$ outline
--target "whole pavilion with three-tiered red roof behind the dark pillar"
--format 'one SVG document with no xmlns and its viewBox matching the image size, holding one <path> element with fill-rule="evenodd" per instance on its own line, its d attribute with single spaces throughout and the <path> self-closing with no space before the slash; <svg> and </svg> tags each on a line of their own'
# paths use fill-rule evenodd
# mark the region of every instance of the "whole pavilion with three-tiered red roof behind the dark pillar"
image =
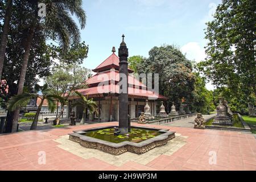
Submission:
<svg viewBox="0 0 256 182">
<path fill-rule="evenodd" d="M 130 118 L 138 118 L 141 112 L 144 111 L 146 102 L 150 106 L 151 114 L 153 116 L 156 115 L 156 106 L 160 104 L 160 101 L 166 101 L 167 98 L 147 89 L 146 85 L 133 76 L 133 71 L 130 68 L 128 68 L 128 71 L 128 113 Z M 119 57 L 115 55 L 115 47 L 112 49 L 112 55 L 93 69 L 93 72 L 96 72 L 96 74 L 86 80 L 88 88 L 77 90 L 84 96 L 93 98 L 98 104 L 98 115 L 87 112 L 86 120 L 118 121 Z M 82 106 L 71 108 L 72 102 L 76 99 L 77 97 L 69 98 L 67 117 L 69 118 L 69 114 L 73 109 L 77 120 L 80 121 L 82 118 Z"/>
</svg>

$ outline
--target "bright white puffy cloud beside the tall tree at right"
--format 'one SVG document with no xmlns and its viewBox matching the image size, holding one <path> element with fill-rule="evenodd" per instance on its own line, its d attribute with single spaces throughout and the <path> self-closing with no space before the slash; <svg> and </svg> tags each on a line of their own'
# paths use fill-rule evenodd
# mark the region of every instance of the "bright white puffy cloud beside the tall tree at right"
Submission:
<svg viewBox="0 0 256 182">
<path fill-rule="evenodd" d="M 205 59 L 204 48 L 199 46 L 197 42 L 189 42 L 181 47 L 181 52 L 186 54 L 187 59 L 195 60 L 196 62 Z"/>
</svg>

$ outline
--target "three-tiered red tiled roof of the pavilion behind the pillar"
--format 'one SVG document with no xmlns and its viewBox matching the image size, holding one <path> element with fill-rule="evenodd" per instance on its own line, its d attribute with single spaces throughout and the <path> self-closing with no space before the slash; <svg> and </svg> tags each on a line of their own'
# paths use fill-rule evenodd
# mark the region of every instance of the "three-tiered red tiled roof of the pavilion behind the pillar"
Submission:
<svg viewBox="0 0 256 182">
<path fill-rule="evenodd" d="M 77 91 L 89 97 L 99 97 L 101 94 L 119 93 L 119 57 L 115 55 L 114 51 L 112 55 L 93 69 L 93 71 L 97 72 L 96 75 L 86 80 L 86 84 L 88 84 L 89 88 L 79 89 Z M 128 71 L 129 73 L 133 72 L 130 68 Z M 167 100 L 166 97 L 154 93 L 151 90 L 147 90 L 146 85 L 142 84 L 142 82 L 131 75 L 128 76 L 128 84 L 129 97 L 145 98 L 149 100 Z"/>
</svg>

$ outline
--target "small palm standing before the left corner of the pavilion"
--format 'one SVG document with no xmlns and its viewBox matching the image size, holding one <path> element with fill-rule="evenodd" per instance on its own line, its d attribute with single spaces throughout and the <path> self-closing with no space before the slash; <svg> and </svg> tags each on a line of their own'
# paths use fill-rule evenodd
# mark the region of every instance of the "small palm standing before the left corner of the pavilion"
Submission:
<svg viewBox="0 0 256 182">
<path fill-rule="evenodd" d="M 86 109 L 88 109 L 89 113 L 91 113 L 91 114 L 93 114 L 94 112 L 98 113 L 98 106 L 97 106 L 96 102 L 93 101 L 92 98 L 88 100 L 88 97 L 83 96 L 81 93 L 79 93 L 77 91 L 75 91 L 75 93 L 77 94 L 77 96 L 79 96 L 80 100 L 78 100 L 74 104 L 72 104 L 72 107 L 74 107 L 76 105 L 80 105 L 83 107 L 82 119 L 80 121 L 80 125 L 84 125 Z"/>
</svg>

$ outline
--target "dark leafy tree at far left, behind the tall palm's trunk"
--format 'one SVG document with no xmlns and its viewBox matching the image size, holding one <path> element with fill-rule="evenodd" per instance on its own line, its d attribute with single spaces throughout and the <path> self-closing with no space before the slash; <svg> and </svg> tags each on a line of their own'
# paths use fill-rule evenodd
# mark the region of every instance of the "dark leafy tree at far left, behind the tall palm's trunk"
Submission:
<svg viewBox="0 0 256 182">
<path fill-rule="evenodd" d="M 21 1 L 19 1 L 21 2 Z M 23 43 L 27 32 L 26 19 L 23 6 L 18 6 L 18 1 L 13 5 L 11 14 L 10 31 L 7 39 L 5 61 L 2 72 L 1 84 L 2 106 L 6 108 L 6 102 L 10 97 L 17 94 L 20 69 L 24 54 Z M 3 10 L 0 6 L 0 12 Z M 1 27 L 2 28 L 2 27 Z M 42 29 L 37 28 L 31 44 L 30 57 L 28 59 L 27 73 L 24 82 L 24 90 L 30 92 L 39 78 L 48 76 L 50 73 L 52 49 L 46 44 L 46 36 Z M 14 111 L 8 111 L 5 123 L 5 132 L 10 133 L 13 125 Z"/>
</svg>

